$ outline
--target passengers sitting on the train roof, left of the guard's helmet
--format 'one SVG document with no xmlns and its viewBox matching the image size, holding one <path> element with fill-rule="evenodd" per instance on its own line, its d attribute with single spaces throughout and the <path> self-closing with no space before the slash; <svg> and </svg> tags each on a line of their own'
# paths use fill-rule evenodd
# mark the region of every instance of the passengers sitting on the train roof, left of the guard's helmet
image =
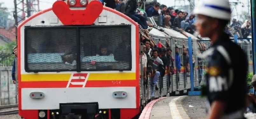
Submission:
<svg viewBox="0 0 256 119">
<path fill-rule="evenodd" d="M 148 22 L 148 17 L 160 16 L 163 19 L 164 28 L 172 28 L 176 31 L 181 32 L 183 35 L 187 36 L 184 32 L 189 32 L 191 34 L 195 31 L 195 15 L 190 14 L 186 10 L 174 10 L 172 7 L 167 7 L 166 5 L 160 5 L 156 1 L 144 4 L 143 0 L 101 0 L 104 5 L 112 9 L 118 10 L 121 13 L 127 15 L 135 22 L 140 24 L 140 26 L 148 32 L 149 27 L 154 27 L 153 24 Z"/>
</svg>

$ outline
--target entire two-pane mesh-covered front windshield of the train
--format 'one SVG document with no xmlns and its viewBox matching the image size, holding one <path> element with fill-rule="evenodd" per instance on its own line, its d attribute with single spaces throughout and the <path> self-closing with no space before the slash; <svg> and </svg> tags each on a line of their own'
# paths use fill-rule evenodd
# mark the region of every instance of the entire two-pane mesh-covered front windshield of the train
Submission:
<svg viewBox="0 0 256 119">
<path fill-rule="evenodd" d="M 131 70 L 130 31 L 129 25 L 25 27 L 25 70 Z"/>
</svg>

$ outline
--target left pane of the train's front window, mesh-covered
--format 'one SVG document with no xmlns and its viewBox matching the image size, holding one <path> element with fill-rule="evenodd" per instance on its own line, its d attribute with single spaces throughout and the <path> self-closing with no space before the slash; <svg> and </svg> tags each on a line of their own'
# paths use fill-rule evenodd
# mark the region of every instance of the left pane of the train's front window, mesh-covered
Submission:
<svg viewBox="0 0 256 119">
<path fill-rule="evenodd" d="M 77 69 L 76 28 L 29 27 L 25 29 L 25 46 L 28 71 Z"/>
</svg>

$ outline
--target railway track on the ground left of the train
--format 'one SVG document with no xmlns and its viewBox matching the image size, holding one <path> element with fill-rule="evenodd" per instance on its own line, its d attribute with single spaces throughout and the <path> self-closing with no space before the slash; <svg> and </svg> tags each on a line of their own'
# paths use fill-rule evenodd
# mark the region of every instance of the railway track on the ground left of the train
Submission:
<svg viewBox="0 0 256 119">
<path fill-rule="evenodd" d="M 11 114 L 17 114 L 18 113 L 18 109 L 16 109 L 18 107 L 17 104 L 12 104 L 12 105 L 3 105 L 0 106 L 0 115 L 11 115 Z M 15 109 L 13 109 L 15 108 Z M 4 111 L 2 111 L 4 110 Z"/>
</svg>

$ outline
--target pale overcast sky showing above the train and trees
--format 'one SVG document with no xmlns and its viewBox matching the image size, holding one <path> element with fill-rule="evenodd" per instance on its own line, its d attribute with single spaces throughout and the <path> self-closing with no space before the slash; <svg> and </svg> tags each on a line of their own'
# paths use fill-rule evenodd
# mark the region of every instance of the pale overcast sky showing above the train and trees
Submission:
<svg viewBox="0 0 256 119">
<path fill-rule="evenodd" d="M 37 0 L 34 0 L 37 1 Z M 52 7 L 52 4 L 56 0 L 39 0 L 39 9 L 44 10 L 47 8 Z M 198 3 L 199 0 L 195 0 L 195 5 Z M 242 11 L 248 12 L 248 1 L 250 0 L 229 0 L 231 3 L 231 9 L 232 9 L 232 16 L 233 18 L 239 19 L 239 16 L 241 15 Z M 4 5 L 2 7 L 7 7 L 9 11 L 14 10 L 14 0 L 0 0 L 0 3 L 3 2 Z M 165 4 L 166 6 L 184 6 L 188 5 L 188 0 L 157 0 L 157 2 L 161 4 Z M 237 2 L 238 4 L 235 5 L 234 2 Z M 236 6 L 236 8 L 235 8 Z M 244 6 L 244 7 L 242 7 Z M 250 10 L 250 9 L 249 9 Z M 189 11 L 188 11 L 189 12 Z M 190 11 L 191 12 L 191 11 Z"/>
</svg>

